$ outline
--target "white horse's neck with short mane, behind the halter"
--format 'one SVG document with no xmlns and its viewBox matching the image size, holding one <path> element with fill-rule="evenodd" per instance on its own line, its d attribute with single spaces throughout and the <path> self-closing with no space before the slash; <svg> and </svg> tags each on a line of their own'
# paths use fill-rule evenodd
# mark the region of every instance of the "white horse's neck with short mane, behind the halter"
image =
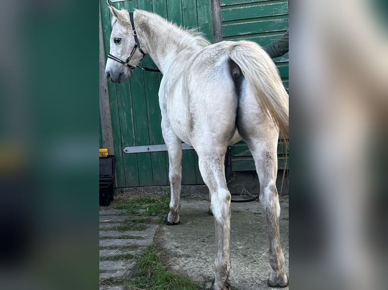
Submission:
<svg viewBox="0 0 388 290">
<path fill-rule="evenodd" d="M 195 36 L 159 17 L 136 11 L 134 19 L 141 46 L 162 73 L 205 46 L 205 40 L 197 41 Z"/>
</svg>

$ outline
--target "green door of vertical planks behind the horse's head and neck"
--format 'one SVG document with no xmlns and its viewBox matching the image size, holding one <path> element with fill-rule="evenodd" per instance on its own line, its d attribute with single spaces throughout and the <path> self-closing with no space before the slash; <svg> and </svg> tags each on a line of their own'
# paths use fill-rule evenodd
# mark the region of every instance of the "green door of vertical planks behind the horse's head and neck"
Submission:
<svg viewBox="0 0 388 290">
<path fill-rule="evenodd" d="M 113 2 L 118 9 L 142 9 L 157 13 L 186 28 L 196 28 L 213 40 L 210 0 L 128 0 Z M 110 13 L 100 1 L 105 55 L 109 53 Z M 142 65 L 156 68 L 146 56 Z M 161 130 L 158 90 L 162 75 L 136 69 L 132 79 L 108 82 L 117 187 L 168 185 L 167 152 L 126 154 L 126 147 L 164 144 Z M 182 183 L 203 184 L 198 156 L 183 151 Z"/>
</svg>

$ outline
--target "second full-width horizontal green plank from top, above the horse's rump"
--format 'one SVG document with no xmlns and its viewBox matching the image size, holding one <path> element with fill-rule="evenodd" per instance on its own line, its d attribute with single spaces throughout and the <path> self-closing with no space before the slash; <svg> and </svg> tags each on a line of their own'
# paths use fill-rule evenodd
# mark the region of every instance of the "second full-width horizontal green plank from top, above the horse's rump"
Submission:
<svg viewBox="0 0 388 290">
<path fill-rule="evenodd" d="M 284 31 L 288 27 L 288 15 L 268 17 L 260 21 L 239 20 L 222 24 L 223 36 L 246 35 L 272 31 Z"/>
</svg>

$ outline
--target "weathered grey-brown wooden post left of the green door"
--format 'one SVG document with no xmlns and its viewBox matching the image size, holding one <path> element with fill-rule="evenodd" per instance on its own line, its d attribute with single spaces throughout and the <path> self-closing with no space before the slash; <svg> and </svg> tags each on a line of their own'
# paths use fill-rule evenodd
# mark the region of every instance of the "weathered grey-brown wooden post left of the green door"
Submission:
<svg viewBox="0 0 388 290">
<path fill-rule="evenodd" d="M 110 155 L 114 155 L 113 149 L 113 134 L 112 134 L 112 122 L 110 117 L 109 107 L 109 91 L 108 83 L 105 74 L 105 50 L 104 50 L 104 37 L 102 34 L 102 23 L 101 23 L 101 9 L 99 11 L 99 49 L 100 49 L 100 129 L 101 129 L 101 140 L 102 148 L 107 148 Z"/>
</svg>

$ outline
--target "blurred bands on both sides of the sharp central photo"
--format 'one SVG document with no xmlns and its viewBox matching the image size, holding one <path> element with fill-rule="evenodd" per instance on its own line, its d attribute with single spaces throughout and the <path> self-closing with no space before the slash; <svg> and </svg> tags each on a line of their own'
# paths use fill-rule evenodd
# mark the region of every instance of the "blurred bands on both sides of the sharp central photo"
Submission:
<svg viewBox="0 0 388 290">
<path fill-rule="evenodd" d="M 0 9 L 0 288 L 98 287 L 97 2 Z M 388 9 L 289 2 L 290 287 L 382 289 Z"/>
</svg>

